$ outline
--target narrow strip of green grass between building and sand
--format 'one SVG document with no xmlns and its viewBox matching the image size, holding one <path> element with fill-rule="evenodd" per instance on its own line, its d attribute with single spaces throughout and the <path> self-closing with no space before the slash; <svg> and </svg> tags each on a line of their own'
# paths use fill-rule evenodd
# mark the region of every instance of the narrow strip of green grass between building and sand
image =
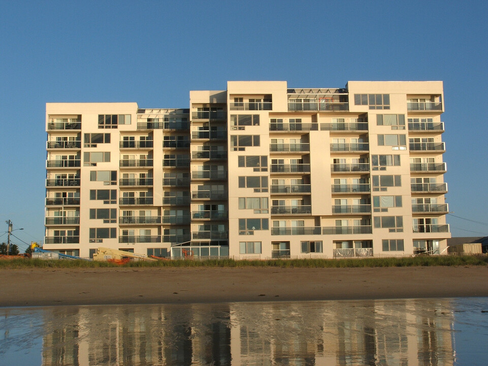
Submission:
<svg viewBox="0 0 488 366">
<path fill-rule="evenodd" d="M 279 267 L 279 268 L 354 268 L 354 267 L 411 267 L 411 266 L 478 266 L 487 265 L 487 255 L 425 256 L 404 258 L 347 258 L 347 259 L 270 259 L 270 260 L 168 260 L 157 262 L 129 262 L 117 265 L 110 262 L 85 260 L 0 260 L 2 268 L 120 268 L 120 267 Z"/>
</svg>

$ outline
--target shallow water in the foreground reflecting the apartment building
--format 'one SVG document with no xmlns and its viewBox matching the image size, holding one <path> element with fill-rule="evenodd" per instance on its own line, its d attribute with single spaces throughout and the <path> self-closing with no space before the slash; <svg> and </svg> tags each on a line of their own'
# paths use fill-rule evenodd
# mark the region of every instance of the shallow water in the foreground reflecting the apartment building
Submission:
<svg viewBox="0 0 488 366">
<path fill-rule="evenodd" d="M 0 308 L 0 365 L 485 365 L 488 298 Z"/>
</svg>

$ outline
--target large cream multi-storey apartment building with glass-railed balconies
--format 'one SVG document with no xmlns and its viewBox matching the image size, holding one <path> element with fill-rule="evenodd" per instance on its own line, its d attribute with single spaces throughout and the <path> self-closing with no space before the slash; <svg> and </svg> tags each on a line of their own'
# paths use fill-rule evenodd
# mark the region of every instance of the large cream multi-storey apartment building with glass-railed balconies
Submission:
<svg viewBox="0 0 488 366">
<path fill-rule="evenodd" d="M 442 254 L 443 111 L 441 81 L 229 81 L 189 109 L 47 103 L 44 248 Z"/>
</svg>

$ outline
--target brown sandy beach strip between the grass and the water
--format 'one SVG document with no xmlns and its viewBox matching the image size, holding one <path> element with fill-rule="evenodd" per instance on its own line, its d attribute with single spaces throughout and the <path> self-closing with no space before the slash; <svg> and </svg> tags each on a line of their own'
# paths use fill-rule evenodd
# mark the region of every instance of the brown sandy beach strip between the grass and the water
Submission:
<svg viewBox="0 0 488 366">
<path fill-rule="evenodd" d="M 488 296 L 488 268 L 0 269 L 0 307 Z"/>
</svg>

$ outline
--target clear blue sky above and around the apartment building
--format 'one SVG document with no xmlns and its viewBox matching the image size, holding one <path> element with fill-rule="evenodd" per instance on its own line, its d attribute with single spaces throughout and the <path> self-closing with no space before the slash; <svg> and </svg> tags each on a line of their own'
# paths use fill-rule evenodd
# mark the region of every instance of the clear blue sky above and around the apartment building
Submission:
<svg viewBox="0 0 488 366">
<path fill-rule="evenodd" d="M 449 209 L 488 224 L 486 14 L 481 0 L 0 0 L 0 241 L 8 219 L 43 239 L 46 102 L 188 107 L 190 90 L 227 80 L 443 80 Z"/>
</svg>

